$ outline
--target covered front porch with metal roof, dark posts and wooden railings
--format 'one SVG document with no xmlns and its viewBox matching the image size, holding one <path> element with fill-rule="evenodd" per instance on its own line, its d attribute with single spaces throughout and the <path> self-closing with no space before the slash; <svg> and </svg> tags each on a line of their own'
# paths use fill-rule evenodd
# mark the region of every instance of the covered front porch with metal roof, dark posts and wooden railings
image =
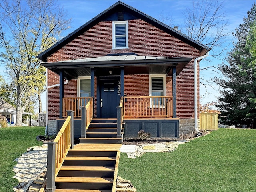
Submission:
<svg viewBox="0 0 256 192">
<path fill-rule="evenodd" d="M 67 111 L 72 110 L 74 124 L 78 122 L 78 128 L 83 126 L 83 119 L 86 119 L 84 126 L 87 129 L 93 118 L 114 118 L 117 120 L 117 126 L 122 128 L 122 125 L 125 125 L 126 137 L 137 136 L 139 130 L 148 130 L 152 137 L 179 137 L 176 77 L 191 59 L 126 54 L 43 63 L 43 66 L 59 75 L 60 110 L 57 130 L 67 117 Z M 164 78 L 168 77 L 171 79 L 172 90 L 168 94 L 166 91 L 152 91 L 146 95 L 130 94 L 125 87 L 129 75 L 141 74 L 161 74 Z M 78 79 L 80 76 L 90 76 L 90 96 L 64 97 L 64 79 Z M 137 85 L 138 82 L 133 83 L 134 90 Z"/>
</svg>

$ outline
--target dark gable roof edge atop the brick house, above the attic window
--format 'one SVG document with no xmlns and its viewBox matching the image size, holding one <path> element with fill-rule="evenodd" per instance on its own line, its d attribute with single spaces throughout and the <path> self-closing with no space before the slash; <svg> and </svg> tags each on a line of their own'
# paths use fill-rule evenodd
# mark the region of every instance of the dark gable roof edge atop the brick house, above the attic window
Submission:
<svg viewBox="0 0 256 192">
<path fill-rule="evenodd" d="M 155 18 L 152 18 L 151 16 L 144 14 L 143 12 L 140 12 L 139 10 L 136 10 L 135 8 L 118 1 L 112 6 L 110 6 L 108 9 L 104 10 L 102 13 L 98 14 L 96 17 L 92 18 L 90 21 L 88 21 L 86 24 L 82 25 L 80 28 L 76 29 L 74 32 L 70 33 L 68 36 L 64 37 L 62 40 L 42 52 L 37 56 L 40 60 L 43 62 L 47 62 L 47 57 L 68 44 L 70 41 L 74 40 L 76 37 L 84 33 L 86 30 L 92 28 L 94 25 L 99 23 L 100 21 L 106 20 L 111 14 L 114 14 L 118 11 L 126 11 L 129 12 L 132 16 L 135 18 L 140 18 L 149 24 L 152 24 L 153 26 L 167 32 L 168 34 L 174 36 L 175 38 L 178 38 L 179 40 L 182 40 L 183 42 L 191 45 L 192 47 L 200 50 L 202 55 L 206 54 L 206 52 L 209 50 L 209 48 L 196 40 L 193 40 L 192 38 L 178 32 L 177 30 L 174 30 L 174 28 L 160 22 L 159 20 L 156 20 Z"/>
</svg>

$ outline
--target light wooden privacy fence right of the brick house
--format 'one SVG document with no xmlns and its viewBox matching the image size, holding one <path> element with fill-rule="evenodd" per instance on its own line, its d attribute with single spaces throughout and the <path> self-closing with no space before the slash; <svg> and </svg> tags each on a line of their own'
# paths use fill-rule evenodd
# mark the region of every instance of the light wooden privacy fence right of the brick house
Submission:
<svg viewBox="0 0 256 192">
<path fill-rule="evenodd" d="M 200 130 L 217 130 L 218 113 L 200 113 Z"/>
</svg>

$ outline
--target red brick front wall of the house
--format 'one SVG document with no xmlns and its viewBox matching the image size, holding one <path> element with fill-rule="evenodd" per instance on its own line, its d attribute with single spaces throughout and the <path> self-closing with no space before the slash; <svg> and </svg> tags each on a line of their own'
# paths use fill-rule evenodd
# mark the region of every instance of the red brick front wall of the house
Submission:
<svg viewBox="0 0 256 192">
<path fill-rule="evenodd" d="M 191 118 L 194 111 L 193 65 L 194 59 L 199 56 L 199 51 L 143 20 L 128 21 L 128 47 L 128 49 L 112 50 L 112 22 L 104 21 L 96 24 L 96 26 L 49 56 L 47 62 L 98 57 L 110 53 L 125 52 L 133 52 L 142 56 L 192 57 L 192 61 L 177 77 L 177 116 L 179 118 Z M 48 70 L 48 85 L 58 84 L 58 81 L 58 75 Z M 76 96 L 76 80 L 73 81 L 64 86 L 64 96 Z M 130 94 L 148 95 L 148 75 L 138 75 L 137 77 L 132 75 L 125 76 L 124 81 L 125 94 L 127 96 L 130 96 Z M 166 84 L 166 94 L 172 95 L 171 77 L 166 78 Z M 58 88 L 48 92 L 48 100 L 48 118 L 56 119 L 58 118 L 58 115 L 56 115 L 58 114 L 56 113 L 58 110 Z"/>
</svg>

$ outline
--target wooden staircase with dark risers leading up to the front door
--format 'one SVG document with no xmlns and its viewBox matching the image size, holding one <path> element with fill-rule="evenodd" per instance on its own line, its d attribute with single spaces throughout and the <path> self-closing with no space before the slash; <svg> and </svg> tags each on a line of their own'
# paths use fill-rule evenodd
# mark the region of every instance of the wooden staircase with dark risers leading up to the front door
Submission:
<svg viewBox="0 0 256 192">
<path fill-rule="evenodd" d="M 55 179 L 56 192 L 114 192 L 122 138 L 116 119 L 93 119 L 86 138 L 70 149 Z"/>
</svg>

